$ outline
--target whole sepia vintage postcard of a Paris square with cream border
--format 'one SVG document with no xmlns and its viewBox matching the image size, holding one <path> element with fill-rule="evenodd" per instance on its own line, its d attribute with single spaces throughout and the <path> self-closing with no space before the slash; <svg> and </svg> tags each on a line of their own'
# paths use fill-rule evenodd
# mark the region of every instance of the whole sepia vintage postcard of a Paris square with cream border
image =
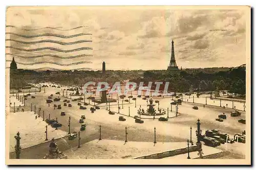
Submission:
<svg viewBox="0 0 256 170">
<path fill-rule="evenodd" d="M 249 6 L 6 9 L 6 164 L 251 164 Z"/>
</svg>

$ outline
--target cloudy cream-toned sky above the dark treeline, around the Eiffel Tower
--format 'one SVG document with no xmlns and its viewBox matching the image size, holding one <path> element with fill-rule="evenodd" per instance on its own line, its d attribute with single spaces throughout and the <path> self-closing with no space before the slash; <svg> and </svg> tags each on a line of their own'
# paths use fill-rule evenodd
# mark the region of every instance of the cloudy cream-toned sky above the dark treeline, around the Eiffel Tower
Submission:
<svg viewBox="0 0 256 170">
<path fill-rule="evenodd" d="M 248 19 L 247 19 L 248 21 Z M 22 44 L 6 41 L 6 46 L 23 49 L 54 47 L 79 50 L 62 53 L 53 50 L 24 52 L 7 47 L 6 53 L 15 54 L 18 68 L 57 69 L 167 69 L 174 40 L 176 63 L 179 68 L 232 67 L 246 62 L 246 11 L 218 9 L 173 9 L 162 7 L 11 7 L 7 9 L 6 32 L 19 35 L 52 33 L 75 35 L 72 38 L 42 36 L 23 38 L 7 34 L 7 39 L 40 41 L 51 39 L 61 42 L 91 40 L 71 45 L 51 42 Z M 56 29 L 41 29 L 54 27 Z M 72 28 L 80 27 L 69 31 Z M 39 29 L 26 31 L 24 29 Z M 52 54 L 31 58 L 31 56 Z M 83 57 L 74 57 L 86 54 Z M 17 56 L 23 56 L 17 57 Z M 8 67 L 13 55 L 6 55 Z M 30 57 L 30 58 L 27 58 Z M 65 59 L 66 58 L 66 59 Z M 25 63 L 19 64 L 19 63 Z M 26 65 L 26 63 L 36 63 Z M 60 63 L 56 65 L 54 63 Z"/>
</svg>

